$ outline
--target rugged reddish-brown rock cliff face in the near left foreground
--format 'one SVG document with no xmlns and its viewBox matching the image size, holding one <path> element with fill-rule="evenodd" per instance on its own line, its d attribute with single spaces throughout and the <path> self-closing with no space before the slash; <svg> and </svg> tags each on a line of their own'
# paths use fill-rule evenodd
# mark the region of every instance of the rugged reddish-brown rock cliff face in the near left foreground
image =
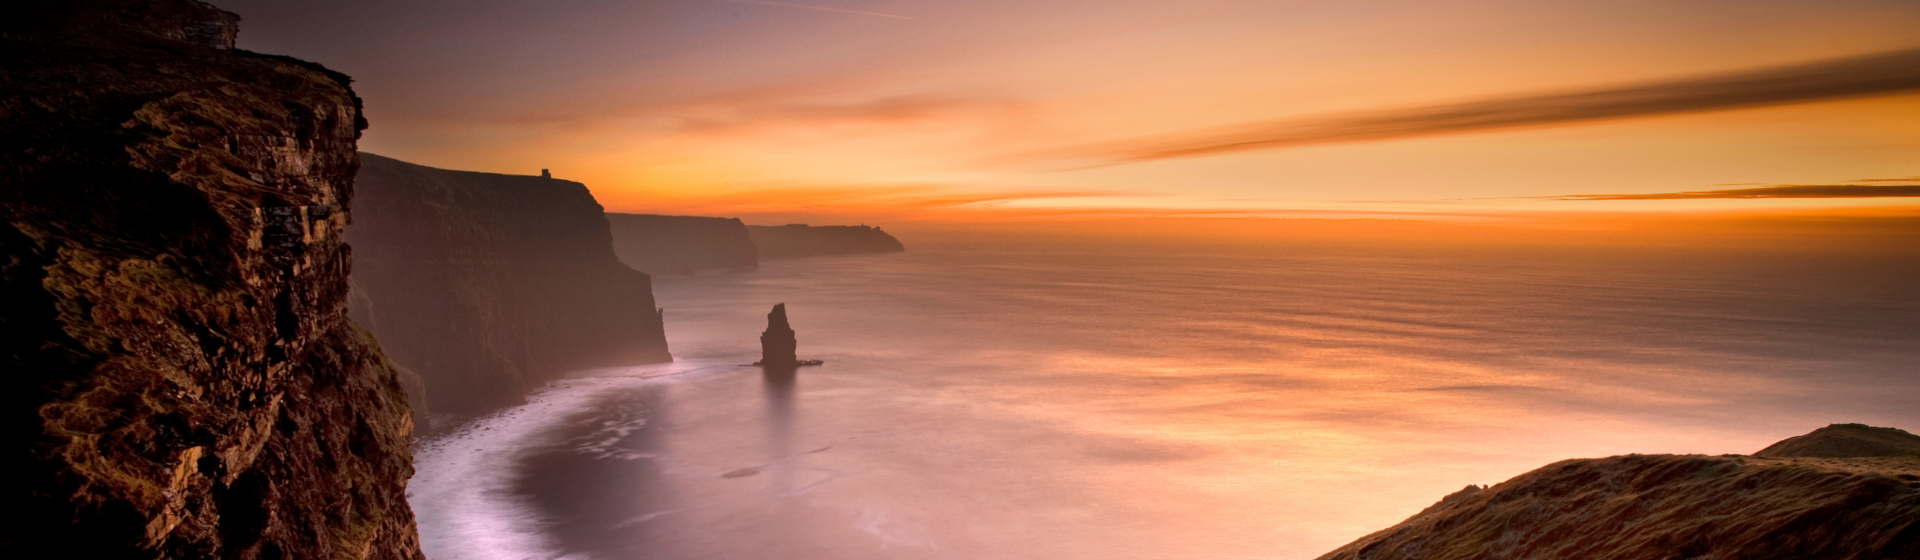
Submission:
<svg viewBox="0 0 1920 560">
<path fill-rule="evenodd" d="M 359 100 L 236 25 L 0 6 L 0 556 L 420 558 L 346 316 Z"/>
</svg>

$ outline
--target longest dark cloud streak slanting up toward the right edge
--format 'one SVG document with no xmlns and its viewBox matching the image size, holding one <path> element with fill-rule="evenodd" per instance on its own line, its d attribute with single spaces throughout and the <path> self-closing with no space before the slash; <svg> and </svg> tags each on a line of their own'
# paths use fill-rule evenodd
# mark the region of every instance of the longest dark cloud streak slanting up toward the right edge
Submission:
<svg viewBox="0 0 1920 560">
<path fill-rule="evenodd" d="M 1242 150 L 1807 104 L 1920 90 L 1920 48 L 1617 88 L 1290 119 L 1035 152 L 1027 163 L 1106 167 Z"/>
</svg>

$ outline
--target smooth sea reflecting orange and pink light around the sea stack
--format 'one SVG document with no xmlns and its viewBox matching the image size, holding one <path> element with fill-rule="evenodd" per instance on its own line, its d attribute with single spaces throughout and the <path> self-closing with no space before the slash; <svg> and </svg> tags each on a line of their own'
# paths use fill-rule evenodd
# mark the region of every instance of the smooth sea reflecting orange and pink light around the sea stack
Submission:
<svg viewBox="0 0 1920 560">
<path fill-rule="evenodd" d="M 1920 265 L 989 247 L 659 278 L 678 361 L 422 445 L 430 558 L 1313 558 L 1467 483 L 1920 428 Z M 801 357 L 768 378 L 766 311 Z"/>
</svg>

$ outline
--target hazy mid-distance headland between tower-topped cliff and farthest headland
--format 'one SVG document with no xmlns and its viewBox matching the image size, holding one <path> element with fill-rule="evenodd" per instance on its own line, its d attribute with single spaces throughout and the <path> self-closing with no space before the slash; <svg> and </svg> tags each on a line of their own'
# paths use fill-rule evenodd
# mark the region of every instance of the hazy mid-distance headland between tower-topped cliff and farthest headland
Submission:
<svg viewBox="0 0 1920 560">
<path fill-rule="evenodd" d="M 620 263 L 655 276 L 751 270 L 760 251 L 739 219 L 607 215 Z"/>
</svg>

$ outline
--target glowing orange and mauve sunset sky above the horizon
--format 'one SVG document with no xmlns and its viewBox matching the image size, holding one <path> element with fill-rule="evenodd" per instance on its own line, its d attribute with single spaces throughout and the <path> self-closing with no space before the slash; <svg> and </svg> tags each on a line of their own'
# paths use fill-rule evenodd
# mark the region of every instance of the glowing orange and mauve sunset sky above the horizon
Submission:
<svg viewBox="0 0 1920 560">
<path fill-rule="evenodd" d="M 749 222 L 1920 217 L 1912 0 L 217 0 L 361 150 Z"/>
</svg>

